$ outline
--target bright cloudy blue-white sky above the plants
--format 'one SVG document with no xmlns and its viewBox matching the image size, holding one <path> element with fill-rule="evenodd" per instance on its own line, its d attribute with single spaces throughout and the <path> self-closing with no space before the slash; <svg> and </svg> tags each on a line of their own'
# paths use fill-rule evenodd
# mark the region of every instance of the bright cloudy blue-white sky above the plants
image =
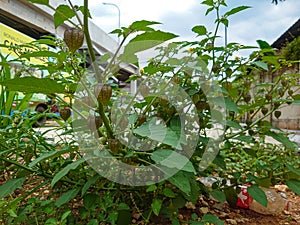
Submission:
<svg viewBox="0 0 300 225">
<path fill-rule="evenodd" d="M 214 13 L 205 16 L 207 6 L 203 0 L 89 0 L 89 8 L 93 22 L 109 33 L 118 28 L 118 8 L 120 9 L 121 26 L 129 26 L 136 20 L 161 22 L 157 29 L 179 35 L 175 40 L 195 40 L 196 34 L 191 31 L 195 25 L 205 25 L 213 31 Z M 72 0 L 74 4 L 82 5 L 83 0 Z M 103 2 L 118 6 L 104 5 Z M 250 9 L 229 17 L 227 29 L 228 42 L 238 42 L 243 45 L 257 46 L 256 40 L 264 40 L 272 44 L 290 26 L 300 18 L 300 0 L 286 0 L 278 5 L 272 0 L 227 0 L 231 8 L 246 5 Z M 110 34 L 117 40 L 116 35 Z M 224 37 L 224 27 L 220 29 Z M 224 39 L 220 39 L 224 41 Z"/>
</svg>

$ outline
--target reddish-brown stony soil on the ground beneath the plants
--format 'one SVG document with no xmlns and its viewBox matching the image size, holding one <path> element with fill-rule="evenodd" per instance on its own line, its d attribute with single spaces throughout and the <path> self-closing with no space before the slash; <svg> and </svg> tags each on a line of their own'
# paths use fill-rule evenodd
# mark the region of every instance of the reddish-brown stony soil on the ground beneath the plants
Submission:
<svg viewBox="0 0 300 225">
<path fill-rule="evenodd" d="M 2 183 L 4 183 L 4 180 L 0 179 L 0 184 Z M 200 196 L 195 205 L 192 203 L 186 203 L 185 207 L 179 210 L 177 218 L 180 220 L 181 225 L 188 225 L 191 224 L 191 221 L 195 221 L 192 219 L 193 214 L 198 216 L 198 221 L 201 221 L 204 214 L 214 214 L 224 222 L 224 225 L 300 225 L 300 196 L 288 190 L 286 185 L 280 185 L 280 188 L 282 187 L 283 190 L 279 190 L 277 187 L 274 189 L 285 193 L 287 201 L 290 203 L 291 207 L 288 210 L 285 210 L 283 206 L 283 210 L 276 215 L 264 215 L 250 209 L 239 207 L 233 208 L 229 207 L 226 203 L 221 204 L 213 199 L 206 199 L 203 196 Z M 22 191 L 24 192 L 29 189 L 30 185 L 28 187 L 24 187 L 24 190 Z M 18 192 L 19 190 L 17 189 L 14 195 L 18 196 L 20 194 Z M 43 192 L 45 194 L 49 191 L 40 189 L 39 192 Z M 0 224 L 2 224 L 1 219 Z M 133 219 L 131 224 L 144 225 L 145 223 L 141 221 L 141 218 L 137 218 L 136 220 Z M 171 225 L 172 222 L 169 218 L 159 216 L 152 217 L 151 222 L 147 224 Z"/>
</svg>

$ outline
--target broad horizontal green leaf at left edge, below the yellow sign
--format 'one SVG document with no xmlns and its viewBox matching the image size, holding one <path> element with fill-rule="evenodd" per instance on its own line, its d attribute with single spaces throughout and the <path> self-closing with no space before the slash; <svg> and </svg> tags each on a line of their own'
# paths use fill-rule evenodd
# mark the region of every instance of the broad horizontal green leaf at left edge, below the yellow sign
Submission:
<svg viewBox="0 0 300 225">
<path fill-rule="evenodd" d="M 66 93 L 64 85 L 50 78 L 21 77 L 4 80 L 0 84 L 6 86 L 10 91 L 24 93 Z"/>
</svg>

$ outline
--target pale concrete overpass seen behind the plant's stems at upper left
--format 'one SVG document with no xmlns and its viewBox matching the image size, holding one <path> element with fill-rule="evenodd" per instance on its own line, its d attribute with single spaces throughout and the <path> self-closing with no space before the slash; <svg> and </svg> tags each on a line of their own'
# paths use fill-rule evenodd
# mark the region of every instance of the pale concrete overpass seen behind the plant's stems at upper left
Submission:
<svg viewBox="0 0 300 225">
<path fill-rule="evenodd" d="M 64 0 L 50 0 L 50 5 L 56 8 L 60 4 L 67 4 Z M 54 27 L 54 10 L 39 4 L 32 4 L 26 0 L 0 0 L 0 22 L 26 34 L 34 39 L 42 35 L 52 34 L 63 37 L 64 31 L 71 26 L 65 23 L 58 28 Z M 99 55 L 113 54 L 118 47 L 117 41 L 105 33 L 100 27 L 89 21 L 89 30 L 94 48 Z M 120 66 L 122 81 L 130 74 L 137 72 L 134 65 Z M 135 87 L 131 87 L 134 91 Z"/>
</svg>

